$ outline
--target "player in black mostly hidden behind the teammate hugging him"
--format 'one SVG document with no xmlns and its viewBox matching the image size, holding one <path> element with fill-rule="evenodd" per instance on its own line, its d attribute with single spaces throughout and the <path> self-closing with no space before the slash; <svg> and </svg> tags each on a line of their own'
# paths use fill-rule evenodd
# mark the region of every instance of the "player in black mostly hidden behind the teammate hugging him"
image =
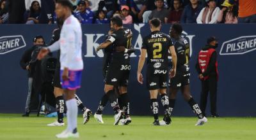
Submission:
<svg viewBox="0 0 256 140">
<path fill-rule="evenodd" d="M 128 44 L 127 46 L 119 46 L 117 50 L 119 52 L 126 52 L 128 55 L 131 55 L 131 53 L 134 52 L 134 49 L 131 48 L 132 32 L 131 32 L 131 29 L 128 29 L 128 28 L 124 28 L 124 31 L 125 31 L 125 36 L 128 39 L 127 40 Z M 108 36 L 111 36 L 111 34 L 113 34 L 112 29 L 108 32 Z M 106 36 L 107 39 L 108 39 L 108 36 Z M 112 44 L 104 48 L 103 69 L 102 69 L 104 78 L 106 78 L 106 73 L 108 71 L 109 64 L 111 63 L 112 53 L 113 53 Z M 128 125 L 129 123 L 131 123 L 131 117 L 130 117 L 130 111 L 129 111 L 130 102 L 127 94 L 127 85 L 129 80 L 130 67 L 131 65 L 129 65 L 128 66 L 129 69 L 125 71 L 124 78 L 120 82 L 119 88 L 118 87 L 115 88 L 116 94 L 119 95 L 118 104 L 120 105 L 120 108 L 123 109 L 125 112 L 125 118 L 120 120 L 121 125 Z M 94 118 L 99 123 L 104 123 L 102 120 L 102 111 L 106 106 L 107 102 L 108 102 L 108 96 L 104 94 L 100 100 L 99 107 L 94 115 Z"/>
</svg>

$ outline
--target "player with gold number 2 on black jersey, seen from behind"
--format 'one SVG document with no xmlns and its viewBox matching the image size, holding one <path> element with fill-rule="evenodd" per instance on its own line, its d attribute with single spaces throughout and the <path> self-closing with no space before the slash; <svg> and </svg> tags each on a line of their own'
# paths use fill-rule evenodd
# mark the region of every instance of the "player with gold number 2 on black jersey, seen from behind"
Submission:
<svg viewBox="0 0 256 140">
<path fill-rule="evenodd" d="M 151 109 L 154 114 L 154 125 L 160 125 L 158 119 L 157 95 L 161 94 L 161 102 L 164 106 L 164 120 L 170 123 L 169 100 L 166 95 L 168 81 L 168 50 L 172 54 L 172 69 L 170 76 L 175 76 L 177 56 L 170 36 L 160 32 L 161 21 L 159 18 L 150 20 L 151 34 L 143 38 L 141 56 L 138 62 L 137 79 L 143 84 L 142 68 L 147 58 L 147 87 L 150 92 Z"/>
</svg>

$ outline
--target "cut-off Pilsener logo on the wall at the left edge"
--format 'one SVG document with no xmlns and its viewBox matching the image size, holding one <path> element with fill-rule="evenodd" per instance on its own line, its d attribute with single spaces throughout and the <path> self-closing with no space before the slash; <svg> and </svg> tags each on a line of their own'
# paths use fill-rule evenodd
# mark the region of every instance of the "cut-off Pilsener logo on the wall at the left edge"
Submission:
<svg viewBox="0 0 256 140">
<path fill-rule="evenodd" d="M 23 36 L 2 36 L 0 37 L 0 55 L 18 50 L 26 46 Z"/>
</svg>

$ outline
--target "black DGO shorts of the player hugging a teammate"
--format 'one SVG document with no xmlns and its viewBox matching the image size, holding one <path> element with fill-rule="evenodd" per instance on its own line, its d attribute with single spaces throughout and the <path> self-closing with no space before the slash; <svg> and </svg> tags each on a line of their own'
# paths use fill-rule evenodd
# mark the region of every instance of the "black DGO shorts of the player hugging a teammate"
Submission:
<svg viewBox="0 0 256 140">
<path fill-rule="evenodd" d="M 130 70 L 130 64 L 110 64 L 106 73 L 105 83 L 114 87 L 127 87 Z"/>
</svg>

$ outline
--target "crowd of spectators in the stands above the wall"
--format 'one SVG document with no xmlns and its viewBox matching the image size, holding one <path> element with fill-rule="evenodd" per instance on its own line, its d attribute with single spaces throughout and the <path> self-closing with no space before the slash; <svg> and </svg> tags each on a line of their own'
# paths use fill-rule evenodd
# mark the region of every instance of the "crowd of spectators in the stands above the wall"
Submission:
<svg viewBox="0 0 256 140">
<path fill-rule="evenodd" d="M 0 0 L 0 24 L 54 24 L 58 0 Z M 81 24 L 109 24 L 120 16 L 124 24 L 256 23 L 255 0 L 70 0 Z"/>
</svg>

